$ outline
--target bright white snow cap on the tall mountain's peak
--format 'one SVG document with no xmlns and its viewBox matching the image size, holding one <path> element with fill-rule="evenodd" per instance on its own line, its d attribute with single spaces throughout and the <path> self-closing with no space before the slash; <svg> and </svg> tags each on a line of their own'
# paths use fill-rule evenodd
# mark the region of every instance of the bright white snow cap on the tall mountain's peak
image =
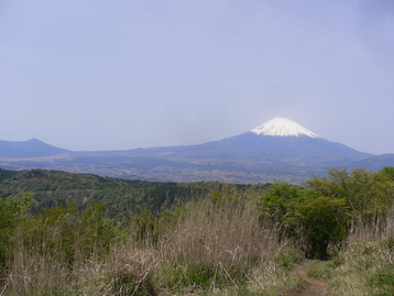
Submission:
<svg viewBox="0 0 394 296">
<path fill-rule="evenodd" d="M 317 135 L 316 133 L 305 129 L 298 123 L 286 118 L 275 118 L 250 130 L 250 132 L 260 135 L 275 135 L 275 136 L 307 135 L 310 138 L 319 138 L 319 135 Z"/>
</svg>

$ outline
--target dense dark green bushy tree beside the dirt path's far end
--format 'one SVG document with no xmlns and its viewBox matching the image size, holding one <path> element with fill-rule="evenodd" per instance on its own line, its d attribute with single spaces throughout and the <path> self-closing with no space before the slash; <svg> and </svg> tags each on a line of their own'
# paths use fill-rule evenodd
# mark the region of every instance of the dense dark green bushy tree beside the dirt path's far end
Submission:
<svg viewBox="0 0 394 296">
<path fill-rule="evenodd" d="M 328 248 L 346 238 L 346 200 L 291 184 L 274 184 L 262 196 L 265 215 L 281 223 L 284 235 L 306 243 L 310 257 L 327 259 Z"/>
</svg>

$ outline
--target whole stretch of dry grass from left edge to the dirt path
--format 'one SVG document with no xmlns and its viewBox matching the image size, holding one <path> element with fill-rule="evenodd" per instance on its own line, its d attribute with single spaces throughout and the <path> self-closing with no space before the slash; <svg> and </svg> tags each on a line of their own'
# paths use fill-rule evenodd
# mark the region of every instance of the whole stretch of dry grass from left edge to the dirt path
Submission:
<svg viewBox="0 0 394 296">
<path fill-rule="evenodd" d="M 130 235 L 107 256 L 78 255 L 84 245 L 75 235 L 70 254 L 62 257 L 54 252 L 61 239 L 56 227 L 41 239 L 24 238 L 0 294 L 269 293 L 284 287 L 291 278 L 288 263 L 302 260 L 295 243 L 281 239 L 278 226 L 262 219 L 254 201 L 238 197 L 187 202 L 150 223 L 142 241 L 135 240 L 140 230 L 131 227 Z"/>
</svg>

